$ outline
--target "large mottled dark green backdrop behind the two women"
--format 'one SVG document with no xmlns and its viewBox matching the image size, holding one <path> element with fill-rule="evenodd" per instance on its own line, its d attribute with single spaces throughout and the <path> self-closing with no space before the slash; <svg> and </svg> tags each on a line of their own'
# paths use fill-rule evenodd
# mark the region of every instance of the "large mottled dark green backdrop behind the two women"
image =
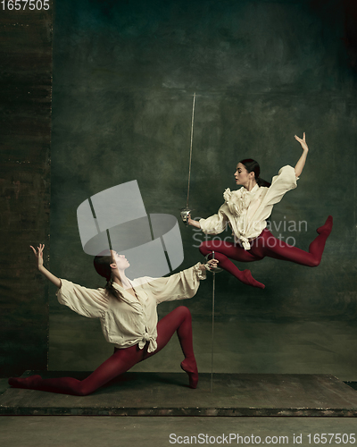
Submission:
<svg viewBox="0 0 357 447">
<path fill-rule="evenodd" d="M 251 156 L 269 180 L 311 148 L 296 190 L 272 215 L 273 232 L 308 249 L 331 214 L 319 267 L 273 259 L 249 266 L 264 291 L 217 275 L 216 363 L 226 372 L 331 373 L 355 379 L 356 74 L 337 2 L 80 0 L 56 4 L 52 156 L 52 268 L 103 283 L 80 244 L 76 211 L 96 192 L 137 180 L 148 213 L 186 205 L 196 92 L 190 205 L 214 214 Z M 302 230 L 288 231 L 293 221 Z M 278 225 L 280 224 L 280 227 Z M 202 236 L 180 223 L 181 268 Z M 194 238 L 195 236 L 195 238 Z M 228 237 L 229 233 L 223 237 Z M 240 265 L 241 268 L 246 268 Z M 200 369 L 210 370 L 212 278 L 186 302 Z M 162 304 L 164 315 L 179 303 Z M 111 352 L 91 321 L 50 295 L 50 367 L 92 369 Z M 176 370 L 172 346 L 140 368 Z M 156 363 L 155 363 L 156 362 Z"/>
</svg>

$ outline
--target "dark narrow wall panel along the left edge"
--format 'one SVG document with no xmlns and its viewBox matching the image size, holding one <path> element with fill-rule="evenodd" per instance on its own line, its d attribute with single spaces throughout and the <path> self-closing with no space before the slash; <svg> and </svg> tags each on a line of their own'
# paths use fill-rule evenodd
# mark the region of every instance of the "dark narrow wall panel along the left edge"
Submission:
<svg viewBox="0 0 357 447">
<path fill-rule="evenodd" d="M 0 6 L 2 377 L 47 367 L 48 284 L 37 272 L 29 244 L 46 243 L 48 258 L 52 2 L 49 5 L 47 11 Z"/>
</svg>

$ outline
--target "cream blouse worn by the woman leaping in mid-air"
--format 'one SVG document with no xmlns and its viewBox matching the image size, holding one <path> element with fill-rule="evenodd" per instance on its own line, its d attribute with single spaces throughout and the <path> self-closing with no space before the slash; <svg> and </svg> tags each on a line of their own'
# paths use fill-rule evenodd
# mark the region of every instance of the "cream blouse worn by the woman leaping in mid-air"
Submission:
<svg viewBox="0 0 357 447">
<path fill-rule="evenodd" d="M 224 191 L 225 203 L 217 215 L 200 219 L 201 229 L 206 234 L 219 234 L 227 224 L 232 229 L 235 241 L 248 250 L 250 240 L 258 237 L 267 226 L 266 219 L 270 216 L 273 206 L 278 203 L 288 190 L 296 188 L 295 169 L 284 166 L 273 177 L 270 188 L 255 185 L 253 190 Z"/>
</svg>

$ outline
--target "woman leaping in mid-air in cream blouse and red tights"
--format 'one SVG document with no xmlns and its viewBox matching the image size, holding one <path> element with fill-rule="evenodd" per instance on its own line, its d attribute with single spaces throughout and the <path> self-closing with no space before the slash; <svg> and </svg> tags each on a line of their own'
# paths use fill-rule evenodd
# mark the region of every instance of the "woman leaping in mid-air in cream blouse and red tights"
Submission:
<svg viewBox="0 0 357 447">
<path fill-rule="evenodd" d="M 204 256 L 214 251 L 215 258 L 220 261 L 220 267 L 236 276 L 242 283 L 264 289 L 264 284 L 256 281 L 250 270 L 240 271 L 232 261 L 252 262 L 260 261 L 263 257 L 274 257 L 285 261 L 295 262 L 303 266 L 319 266 L 326 240 L 332 230 L 332 216 L 318 228 L 319 236 L 312 240 L 309 251 L 303 251 L 290 246 L 282 240 L 276 239 L 266 228 L 266 219 L 270 216 L 273 206 L 278 203 L 288 190 L 296 188 L 296 180 L 303 172 L 303 166 L 309 148 L 306 144 L 305 133 L 303 139 L 295 135 L 303 148 L 303 155 L 292 166 L 284 166 L 271 184 L 263 181 L 259 164 L 248 158 L 237 164 L 234 174 L 240 190 L 225 190 L 225 203 L 220 207 L 217 215 L 208 219 L 195 221 L 188 216 L 187 223 L 200 228 L 206 234 L 218 234 L 226 229 L 227 223 L 232 229 L 234 243 L 223 240 L 206 240 L 202 242 L 200 251 Z"/>
</svg>

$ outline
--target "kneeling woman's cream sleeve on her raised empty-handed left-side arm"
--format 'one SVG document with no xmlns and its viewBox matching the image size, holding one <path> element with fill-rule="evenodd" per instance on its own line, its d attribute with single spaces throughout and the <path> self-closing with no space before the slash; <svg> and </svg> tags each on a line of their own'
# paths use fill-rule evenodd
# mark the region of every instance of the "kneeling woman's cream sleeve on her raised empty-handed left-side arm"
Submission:
<svg viewBox="0 0 357 447">
<path fill-rule="evenodd" d="M 109 302 L 104 289 L 87 289 L 62 279 L 61 283 L 62 286 L 57 291 L 57 299 L 60 304 L 89 318 L 104 316 Z"/>
</svg>

